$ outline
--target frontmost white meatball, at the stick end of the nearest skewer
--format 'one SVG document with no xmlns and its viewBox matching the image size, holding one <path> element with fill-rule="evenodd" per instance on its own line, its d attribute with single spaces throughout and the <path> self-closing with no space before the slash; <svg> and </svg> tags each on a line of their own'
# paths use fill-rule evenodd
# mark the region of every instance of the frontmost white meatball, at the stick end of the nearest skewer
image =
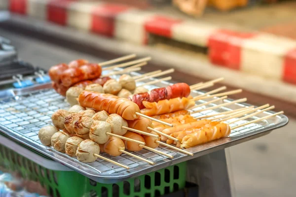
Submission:
<svg viewBox="0 0 296 197">
<path fill-rule="evenodd" d="M 96 161 L 98 157 L 94 154 L 100 154 L 100 146 L 89 139 L 82 141 L 76 151 L 77 160 L 84 163 Z"/>
</svg>

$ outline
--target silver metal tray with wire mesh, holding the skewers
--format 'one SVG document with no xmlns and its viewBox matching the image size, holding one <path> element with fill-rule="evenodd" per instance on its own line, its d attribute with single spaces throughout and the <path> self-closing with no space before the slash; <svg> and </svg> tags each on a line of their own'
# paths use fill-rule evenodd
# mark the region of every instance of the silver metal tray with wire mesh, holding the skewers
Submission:
<svg viewBox="0 0 296 197">
<path fill-rule="evenodd" d="M 138 75 L 138 73 L 133 74 Z M 116 78 L 118 76 L 113 77 Z M 148 79 L 147 81 L 149 80 L 153 79 Z M 155 84 L 155 86 L 150 85 L 147 88 L 153 89 L 156 87 L 165 87 L 169 84 L 170 83 L 167 82 L 161 82 Z M 191 95 L 196 96 L 199 94 L 203 93 L 193 91 Z M 265 135 L 274 129 L 285 126 L 288 123 L 288 118 L 285 115 L 279 115 L 269 118 L 268 120 L 260 121 L 257 124 L 250 124 L 245 127 L 238 128 L 231 132 L 230 137 L 222 138 L 187 149 L 188 151 L 194 153 L 194 156 L 187 156 L 167 147 L 158 147 L 157 149 L 173 155 L 174 159 L 169 159 L 165 156 L 149 152 L 148 150 L 134 152 L 136 155 L 140 155 L 143 158 L 155 162 L 155 165 L 147 164 L 125 154 L 117 157 L 111 157 L 107 154 L 103 154 L 114 161 L 118 161 L 122 164 L 130 166 L 130 169 L 126 170 L 122 167 L 100 159 L 90 164 L 84 164 L 79 162 L 76 158 L 71 158 L 66 154 L 60 153 L 51 147 L 43 146 L 40 143 L 37 135 L 38 131 L 41 127 L 51 124 L 51 114 L 54 113 L 58 108 L 67 109 L 70 107 L 64 99 L 65 98 L 58 95 L 53 89 L 51 89 L 50 84 L 34 86 L 21 90 L 9 89 L 0 91 L 0 131 L 10 138 L 17 140 L 43 153 L 53 160 L 60 162 L 61 164 L 64 164 L 75 171 L 78 171 L 79 173 L 101 183 L 119 182 L 131 177 L 137 177 L 139 175 L 161 169 L 169 165 L 200 157 L 202 155 L 209 154 L 211 152 Z M 205 101 L 208 100 L 199 100 L 197 103 L 199 104 Z M 230 99 L 224 100 L 224 102 L 229 101 Z M 210 104 L 208 106 L 213 106 L 220 103 L 221 102 L 216 102 L 215 104 Z M 195 116 L 233 110 L 247 105 L 248 104 L 246 103 L 232 104 L 228 107 L 222 107 L 217 110 L 206 110 L 195 114 Z M 246 121 L 251 121 L 272 113 L 274 112 L 263 112 L 257 117 L 240 121 L 238 124 L 242 124 Z M 234 124 L 231 126 L 234 126 Z"/>
</svg>

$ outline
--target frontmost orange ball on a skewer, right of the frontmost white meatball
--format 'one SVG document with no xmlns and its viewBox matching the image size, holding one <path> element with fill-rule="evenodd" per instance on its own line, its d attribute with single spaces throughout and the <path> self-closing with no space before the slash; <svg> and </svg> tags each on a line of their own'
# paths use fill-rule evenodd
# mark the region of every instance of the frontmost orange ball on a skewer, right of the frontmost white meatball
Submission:
<svg viewBox="0 0 296 197">
<path fill-rule="evenodd" d="M 111 136 L 105 144 L 100 144 L 100 148 L 101 152 L 105 152 L 113 157 L 116 157 L 122 154 L 120 150 L 124 150 L 125 146 L 122 139 Z"/>
</svg>

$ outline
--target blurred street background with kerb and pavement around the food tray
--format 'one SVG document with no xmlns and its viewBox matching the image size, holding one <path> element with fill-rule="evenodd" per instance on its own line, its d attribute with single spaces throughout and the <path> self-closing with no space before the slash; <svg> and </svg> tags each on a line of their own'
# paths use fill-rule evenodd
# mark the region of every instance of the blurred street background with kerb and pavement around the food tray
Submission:
<svg viewBox="0 0 296 197">
<path fill-rule="evenodd" d="M 227 151 L 238 197 L 295 196 L 295 0 L 0 0 L 0 10 L 1 61 L 17 52 L 26 62 L 0 67 L 1 80 L 137 53 L 152 57 L 144 71 L 173 67 L 188 84 L 224 77 L 244 90 L 231 98 L 284 110 L 288 126 Z"/>
</svg>

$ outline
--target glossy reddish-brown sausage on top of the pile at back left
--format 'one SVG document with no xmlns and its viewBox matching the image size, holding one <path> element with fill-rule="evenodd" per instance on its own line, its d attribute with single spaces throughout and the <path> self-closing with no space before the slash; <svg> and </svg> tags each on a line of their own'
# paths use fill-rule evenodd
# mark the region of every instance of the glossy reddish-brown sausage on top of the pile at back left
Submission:
<svg viewBox="0 0 296 197">
<path fill-rule="evenodd" d="M 79 81 L 100 77 L 101 73 L 102 68 L 98 64 L 86 64 L 75 68 L 68 68 L 61 74 L 62 85 L 70 87 Z"/>
</svg>

